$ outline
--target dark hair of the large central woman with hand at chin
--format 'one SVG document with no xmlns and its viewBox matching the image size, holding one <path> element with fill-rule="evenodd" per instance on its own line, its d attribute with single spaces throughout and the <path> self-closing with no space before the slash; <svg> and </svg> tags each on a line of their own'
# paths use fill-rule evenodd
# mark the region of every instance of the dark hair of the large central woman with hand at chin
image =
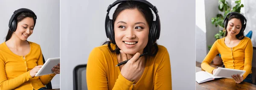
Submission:
<svg viewBox="0 0 256 90">
<path fill-rule="evenodd" d="M 125 9 L 138 9 L 138 11 L 140 11 L 143 14 L 143 17 L 145 17 L 145 19 L 148 23 L 149 30 L 151 29 L 151 25 L 152 25 L 152 22 L 154 19 L 151 9 L 149 8 L 149 6 L 147 4 L 141 3 L 138 1 L 125 1 L 123 3 L 120 3 L 117 6 L 117 8 L 113 14 L 113 23 L 112 24 L 114 24 L 116 17 L 119 15 L 119 13 Z M 149 33 L 150 33 L 150 31 L 149 31 Z M 148 37 L 148 40 L 149 40 L 149 37 Z M 120 48 L 116 44 L 115 44 L 116 49 L 111 48 L 111 41 L 106 41 L 104 44 L 108 44 L 108 48 L 110 49 L 111 52 L 116 52 L 116 54 L 120 53 L 120 51 L 119 51 Z M 157 51 L 158 51 L 157 43 L 154 43 L 152 45 L 149 43 L 149 41 L 148 41 L 148 44 L 143 49 L 143 52 L 148 52 L 148 55 L 151 55 L 151 56 L 156 55 Z"/>
</svg>

